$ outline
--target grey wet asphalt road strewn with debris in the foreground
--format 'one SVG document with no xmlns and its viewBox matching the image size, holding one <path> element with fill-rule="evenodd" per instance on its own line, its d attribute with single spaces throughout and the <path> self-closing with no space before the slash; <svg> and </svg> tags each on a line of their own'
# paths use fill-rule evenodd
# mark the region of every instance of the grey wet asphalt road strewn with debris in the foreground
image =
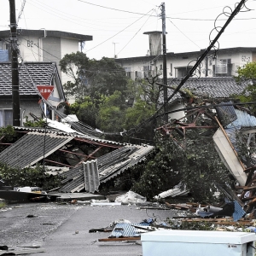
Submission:
<svg viewBox="0 0 256 256">
<path fill-rule="evenodd" d="M 55 202 L 8 207 L 6 211 L 0 210 L 0 246 L 9 246 L 10 252 L 35 250 L 35 246 L 44 248 L 44 253 L 32 253 L 34 256 L 143 255 L 143 247 L 137 241 L 98 241 L 108 238 L 110 233 L 89 233 L 89 230 L 106 228 L 119 219 L 140 223 L 156 218 L 165 222 L 177 213 L 134 205 L 90 207 Z"/>
</svg>

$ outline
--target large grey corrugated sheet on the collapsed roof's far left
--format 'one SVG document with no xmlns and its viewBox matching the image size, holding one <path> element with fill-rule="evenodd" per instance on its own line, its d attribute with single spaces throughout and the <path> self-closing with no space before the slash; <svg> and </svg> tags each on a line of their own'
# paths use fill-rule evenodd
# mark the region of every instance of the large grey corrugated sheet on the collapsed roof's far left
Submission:
<svg viewBox="0 0 256 256">
<path fill-rule="evenodd" d="M 11 167 L 32 166 L 71 140 L 73 137 L 29 132 L 3 150 L 0 154 L 0 161 Z"/>
</svg>

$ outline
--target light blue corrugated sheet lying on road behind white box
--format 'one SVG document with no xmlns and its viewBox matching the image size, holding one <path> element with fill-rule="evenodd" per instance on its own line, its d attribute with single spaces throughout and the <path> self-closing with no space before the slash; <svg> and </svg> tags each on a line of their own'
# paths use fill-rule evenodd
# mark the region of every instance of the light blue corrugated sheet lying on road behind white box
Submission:
<svg viewBox="0 0 256 256">
<path fill-rule="evenodd" d="M 131 237 L 131 236 L 141 236 L 142 230 L 136 227 L 148 227 L 148 223 L 137 223 L 137 224 L 127 224 L 119 223 L 115 224 L 113 231 L 109 237 Z"/>
</svg>

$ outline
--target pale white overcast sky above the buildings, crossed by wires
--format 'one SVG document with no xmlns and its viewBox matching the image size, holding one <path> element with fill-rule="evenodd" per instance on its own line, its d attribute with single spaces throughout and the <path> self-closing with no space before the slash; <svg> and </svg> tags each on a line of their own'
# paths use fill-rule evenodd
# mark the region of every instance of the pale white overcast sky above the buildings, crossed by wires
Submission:
<svg viewBox="0 0 256 256">
<path fill-rule="evenodd" d="M 24 0 L 16 0 L 16 17 Z M 227 17 L 224 7 L 232 12 L 234 0 L 26 0 L 18 27 L 23 29 L 58 30 L 90 35 L 84 53 L 90 58 L 119 58 L 147 55 L 148 35 L 161 31 L 161 3 L 166 5 L 167 52 L 189 52 L 205 49 L 216 26 L 223 26 Z M 256 1 L 247 0 L 248 12 L 240 12 L 230 22 L 219 48 L 256 47 Z M 246 9 L 243 9 L 246 10 Z M 9 0 L 1 0 L 0 30 L 9 29 Z M 216 32 L 212 33 L 212 39 Z"/>
</svg>

